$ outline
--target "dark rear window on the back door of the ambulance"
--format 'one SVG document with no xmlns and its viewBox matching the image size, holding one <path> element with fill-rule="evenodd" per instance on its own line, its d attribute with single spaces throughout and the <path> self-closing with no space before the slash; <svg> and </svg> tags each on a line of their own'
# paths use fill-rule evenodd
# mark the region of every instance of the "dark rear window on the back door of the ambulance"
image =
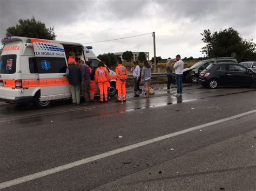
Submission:
<svg viewBox="0 0 256 191">
<path fill-rule="evenodd" d="M 0 74 L 14 74 L 16 72 L 15 54 L 0 55 Z"/>
</svg>

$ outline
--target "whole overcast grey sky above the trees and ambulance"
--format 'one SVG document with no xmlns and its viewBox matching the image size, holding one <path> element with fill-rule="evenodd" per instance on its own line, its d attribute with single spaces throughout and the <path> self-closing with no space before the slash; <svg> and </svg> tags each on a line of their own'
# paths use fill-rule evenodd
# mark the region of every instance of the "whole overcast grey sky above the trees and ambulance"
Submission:
<svg viewBox="0 0 256 191">
<path fill-rule="evenodd" d="M 255 0 L 0 0 L 0 37 L 20 18 L 54 26 L 57 40 L 92 45 L 96 55 L 145 51 L 153 56 L 153 38 L 145 36 L 95 41 L 156 32 L 157 56 L 204 56 L 200 35 L 205 29 L 234 27 L 244 39 L 256 42 Z M 89 43 L 89 44 L 85 44 Z"/>
</svg>

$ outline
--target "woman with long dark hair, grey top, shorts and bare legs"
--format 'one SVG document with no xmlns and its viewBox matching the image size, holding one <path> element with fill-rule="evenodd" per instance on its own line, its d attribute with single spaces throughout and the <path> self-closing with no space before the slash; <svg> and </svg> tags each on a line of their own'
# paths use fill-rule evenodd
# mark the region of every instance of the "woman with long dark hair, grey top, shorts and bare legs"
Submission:
<svg viewBox="0 0 256 191">
<path fill-rule="evenodd" d="M 149 98 L 149 91 L 150 91 L 150 82 L 151 82 L 151 69 L 152 66 L 146 60 L 144 61 L 144 66 L 142 68 L 142 81 L 144 83 L 144 87 L 146 90 L 146 95 L 144 98 Z"/>
</svg>

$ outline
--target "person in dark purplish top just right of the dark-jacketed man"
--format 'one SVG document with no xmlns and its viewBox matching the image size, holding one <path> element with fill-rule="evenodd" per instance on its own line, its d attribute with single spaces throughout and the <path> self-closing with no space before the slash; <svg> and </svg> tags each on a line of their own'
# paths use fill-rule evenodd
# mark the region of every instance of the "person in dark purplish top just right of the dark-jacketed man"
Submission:
<svg viewBox="0 0 256 191">
<path fill-rule="evenodd" d="M 86 63 L 84 63 L 83 60 L 79 61 L 79 67 L 81 69 L 81 75 L 82 75 L 82 93 L 84 95 L 85 103 L 84 105 L 88 105 L 90 101 L 90 83 L 91 83 L 91 74 L 90 74 L 90 68 Z"/>
</svg>

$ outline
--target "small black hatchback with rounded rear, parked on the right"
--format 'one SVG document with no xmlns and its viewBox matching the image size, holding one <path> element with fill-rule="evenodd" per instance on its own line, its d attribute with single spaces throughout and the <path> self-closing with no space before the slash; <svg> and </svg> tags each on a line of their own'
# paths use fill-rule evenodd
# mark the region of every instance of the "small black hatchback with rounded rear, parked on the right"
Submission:
<svg viewBox="0 0 256 191">
<path fill-rule="evenodd" d="M 199 74 L 204 87 L 256 86 L 256 73 L 237 63 L 211 63 Z"/>
</svg>

